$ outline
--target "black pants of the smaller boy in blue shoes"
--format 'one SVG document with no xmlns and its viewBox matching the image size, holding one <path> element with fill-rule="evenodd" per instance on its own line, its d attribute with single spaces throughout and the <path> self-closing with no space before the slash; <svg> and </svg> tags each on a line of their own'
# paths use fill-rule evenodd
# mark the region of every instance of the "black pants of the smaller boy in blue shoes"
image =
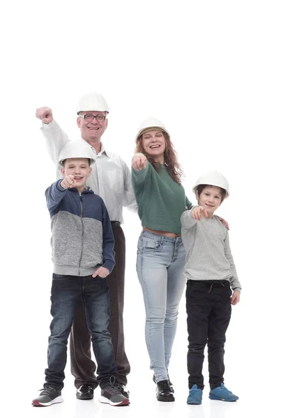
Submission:
<svg viewBox="0 0 281 418">
<path fill-rule="evenodd" d="M 225 333 L 231 317 L 231 288 L 227 280 L 188 280 L 188 386 L 204 389 L 202 367 L 208 345 L 208 372 L 211 389 L 224 382 Z"/>
</svg>

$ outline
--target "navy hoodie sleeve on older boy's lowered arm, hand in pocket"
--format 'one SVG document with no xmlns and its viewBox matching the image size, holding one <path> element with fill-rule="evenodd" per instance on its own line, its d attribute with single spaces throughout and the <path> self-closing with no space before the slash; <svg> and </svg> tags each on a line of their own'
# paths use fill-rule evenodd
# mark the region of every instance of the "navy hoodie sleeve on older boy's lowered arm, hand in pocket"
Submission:
<svg viewBox="0 0 281 418">
<path fill-rule="evenodd" d="M 102 201 L 102 258 L 103 265 L 112 272 L 115 265 L 114 236 L 105 203 Z"/>
</svg>

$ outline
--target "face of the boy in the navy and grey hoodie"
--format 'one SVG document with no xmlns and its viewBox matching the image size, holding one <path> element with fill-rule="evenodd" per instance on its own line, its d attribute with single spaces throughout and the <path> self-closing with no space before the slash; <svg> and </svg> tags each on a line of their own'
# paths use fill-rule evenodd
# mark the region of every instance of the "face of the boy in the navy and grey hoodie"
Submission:
<svg viewBox="0 0 281 418">
<path fill-rule="evenodd" d="M 91 167 L 88 158 L 66 158 L 61 168 L 63 177 L 72 174 L 77 183 L 76 189 L 78 192 L 83 192 L 86 186 L 86 180 L 91 175 Z"/>
</svg>

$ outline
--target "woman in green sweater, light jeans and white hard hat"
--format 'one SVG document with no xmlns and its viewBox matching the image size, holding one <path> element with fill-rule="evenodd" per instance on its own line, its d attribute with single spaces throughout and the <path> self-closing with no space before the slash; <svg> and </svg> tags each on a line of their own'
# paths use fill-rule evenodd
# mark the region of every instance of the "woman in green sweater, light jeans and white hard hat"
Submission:
<svg viewBox="0 0 281 418">
<path fill-rule="evenodd" d="M 181 185 L 182 170 L 165 125 L 146 119 L 137 134 L 132 185 L 143 231 L 137 275 L 146 309 L 146 346 L 158 401 L 174 401 L 168 366 L 186 279 L 181 215 L 192 203 Z"/>
</svg>

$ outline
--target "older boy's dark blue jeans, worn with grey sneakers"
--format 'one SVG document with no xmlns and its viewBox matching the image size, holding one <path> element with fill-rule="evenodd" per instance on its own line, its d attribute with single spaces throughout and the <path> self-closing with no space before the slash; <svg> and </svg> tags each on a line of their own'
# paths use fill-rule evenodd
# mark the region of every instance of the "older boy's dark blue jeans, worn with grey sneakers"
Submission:
<svg viewBox="0 0 281 418">
<path fill-rule="evenodd" d="M 53 319 L 50 325 L 45 386 L 63 388 L 68 336 L 73 324 L 75 307 L 81 297 L 91 332 L 93 353 L 98 363 L 100 387 L 107 385 L 110 376 L 117 376 L 112 341 L 107 331 L 110 315 L 107 279 L 53 274 L 51 291 Z"/>
</svg>

